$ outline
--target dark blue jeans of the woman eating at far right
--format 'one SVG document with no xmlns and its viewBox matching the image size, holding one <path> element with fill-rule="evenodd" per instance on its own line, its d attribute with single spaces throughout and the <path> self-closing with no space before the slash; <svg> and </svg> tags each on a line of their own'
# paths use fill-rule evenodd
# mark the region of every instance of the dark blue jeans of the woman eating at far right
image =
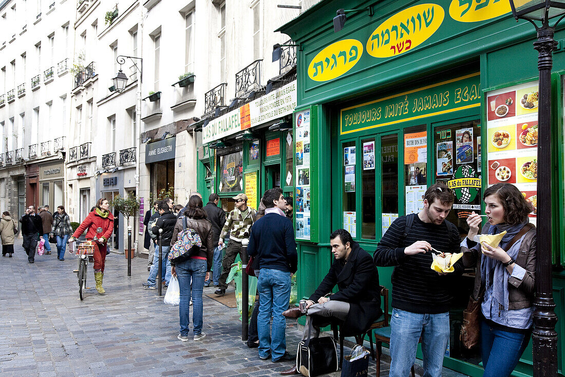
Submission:
<svg viewBox="0 0 565 377">
<path fill-rule="evenodd" d="M 510 376 L 520 361 L 531 334 L 531 331 L 517 333 L 499 330 L 481 320 L 481 354 L 485 369 L 483 376 Z"/>
</svg>

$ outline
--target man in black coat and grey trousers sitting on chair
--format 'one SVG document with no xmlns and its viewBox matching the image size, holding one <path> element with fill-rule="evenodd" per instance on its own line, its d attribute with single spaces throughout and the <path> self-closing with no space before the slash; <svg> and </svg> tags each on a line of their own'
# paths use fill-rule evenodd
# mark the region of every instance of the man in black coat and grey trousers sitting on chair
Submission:
<svg viewBox="0 0 565 377">
<path fill-rule="evenodd" d="M 359 335 L 383 313 L 379 272 L 371 255 L 360 248 L 345 229 L 332 232 L 329 239 L 335 261 L 318 289 L 306 301 L 306 313 L 301 313 L 299 307 L 282 313 L 287 318 L 307 315 L 302 340 L 318 337 L 320 327 L 328 326 L 332 320 L 341 322 L 345 336 Z M 331 294 L 336 284 L 338 291 Z M 281 374 L 298 372 L 294 366 Z"/>
</svg>

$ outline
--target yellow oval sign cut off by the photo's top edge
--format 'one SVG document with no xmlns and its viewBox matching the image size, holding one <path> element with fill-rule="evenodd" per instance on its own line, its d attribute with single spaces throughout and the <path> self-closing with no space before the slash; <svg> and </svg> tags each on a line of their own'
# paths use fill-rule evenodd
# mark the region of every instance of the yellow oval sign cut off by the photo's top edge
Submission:
<svg viewBox="0 0 565 377">
<path fill-rule="evenodd" d="M 482 2 L 481 0 L 478 2 L 476 0 L 452 0 L 449 6 L 449 15 L 451 18 L 460 22 L 490 20 L 510 13 L 511 11 L 510 2 L 503 0 L 482 0 Z"/>
</svg>

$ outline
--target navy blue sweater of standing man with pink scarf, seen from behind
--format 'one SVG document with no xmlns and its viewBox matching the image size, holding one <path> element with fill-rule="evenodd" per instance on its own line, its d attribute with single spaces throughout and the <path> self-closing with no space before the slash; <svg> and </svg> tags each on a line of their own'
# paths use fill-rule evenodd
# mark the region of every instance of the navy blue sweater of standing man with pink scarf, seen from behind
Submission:
<svg viewBox="0 0 565 377">
<path fill-rule="evenodd" d="M 296 272 L 298 254 L 292 222 L 276 213 L 264 215 L 251 227 L 247 254 L 257 255 L 260 268 Z"/>
</svg>

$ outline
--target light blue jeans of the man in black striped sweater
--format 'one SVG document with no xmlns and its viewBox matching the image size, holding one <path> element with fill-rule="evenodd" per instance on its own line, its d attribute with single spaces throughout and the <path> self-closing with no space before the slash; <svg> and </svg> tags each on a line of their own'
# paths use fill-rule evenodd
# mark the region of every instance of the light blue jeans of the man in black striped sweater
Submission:
<svg viewBox="0 0 565 377">
<path fill-rule="evenodd" d="M 424 377 L 441 377 L 449 341 L 449 312 L 419 314 L 393 309 L 390 319 L 390 377 L 406 377 L 422 339 Z"/>
</svg>

